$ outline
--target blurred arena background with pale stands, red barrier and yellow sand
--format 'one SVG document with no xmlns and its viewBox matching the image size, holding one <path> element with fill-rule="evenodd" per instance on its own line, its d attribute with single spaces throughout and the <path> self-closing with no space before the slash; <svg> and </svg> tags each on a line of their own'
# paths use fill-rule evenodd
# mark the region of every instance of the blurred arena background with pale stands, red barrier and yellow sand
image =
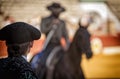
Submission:
<svg viewBox="0 0 120 79">
<path fill-rule="evenodd" d="M 120 78 L 120 1 L 119 0 L 0 0 L 0 29 L 5 25 L 24 21 L 40 30 L 41 19 L 50 12 L 46 6 L 59 2 L 66 8 L 60 18 L 65 20 L 72 41 L 78 22 L 85 13 L 90 13 L 93 23 L 88 28 L 94 56 L 82 67 L 87 78 Z M 45 36 L 34 42 L 28 55 L 41 51 Z M 64 40 L 61 40 L 64 46 Z M 6 57 L 6 46 L 0 41 L 0 57 Z"/>
</svg>

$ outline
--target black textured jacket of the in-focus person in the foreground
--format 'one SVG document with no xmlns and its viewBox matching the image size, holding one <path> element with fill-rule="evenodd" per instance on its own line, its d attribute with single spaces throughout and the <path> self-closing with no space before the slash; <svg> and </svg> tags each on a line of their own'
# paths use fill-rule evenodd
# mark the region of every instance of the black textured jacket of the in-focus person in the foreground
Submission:
<svg viewBox="0 0 120 79">
<path fill-rule="evenodd" d="M 37 79 L 29 63 L 22 57 L 0 59 L 0 79 Z"/>
</svg>

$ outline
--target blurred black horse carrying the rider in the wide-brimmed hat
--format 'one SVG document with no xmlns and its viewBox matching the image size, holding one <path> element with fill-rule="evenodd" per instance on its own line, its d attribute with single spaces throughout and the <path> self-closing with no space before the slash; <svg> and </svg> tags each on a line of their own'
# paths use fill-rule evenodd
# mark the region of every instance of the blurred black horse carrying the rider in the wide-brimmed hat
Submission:
<svg viewBox="0 0 120 79">
<path fill-rule="evenodd" d="M 80 66 L 82 53 L 88 59 L 92 57 L 90 35 L 80 27 L 69 49 L 64 51 L 61 47 L 56 47 L 46 60 L 43 55 L 35 72 L 39 79 L 85 79 Z"/>
</svg>

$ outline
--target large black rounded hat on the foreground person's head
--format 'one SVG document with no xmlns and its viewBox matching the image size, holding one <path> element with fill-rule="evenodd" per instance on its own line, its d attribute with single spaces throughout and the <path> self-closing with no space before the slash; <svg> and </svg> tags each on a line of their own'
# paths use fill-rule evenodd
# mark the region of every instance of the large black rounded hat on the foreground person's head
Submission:
<svg viewBox="0 0 120 79">
<path fill-rule="evenodd" d="M 21 44 L 39 39 L 41 33 L 38 29 L 24 22 L 16 22 L 0 30 L 0 40 L 8 44 Z"/>
</svg>

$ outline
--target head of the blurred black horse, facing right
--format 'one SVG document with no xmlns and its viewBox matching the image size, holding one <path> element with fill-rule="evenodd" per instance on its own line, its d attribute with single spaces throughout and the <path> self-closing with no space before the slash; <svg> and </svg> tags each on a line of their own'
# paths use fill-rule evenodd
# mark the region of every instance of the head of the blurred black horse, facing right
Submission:
<svg viewBox="0 0 120 79">
<path fill-rule="evenodd" d="M 78 53 L 85 53 L 88 59 L 92 57 L 93 53 L 91 51 L 90 35 L 87 31 L 78 30 L 74 42 L 74 46 Z"/>
</svg>

